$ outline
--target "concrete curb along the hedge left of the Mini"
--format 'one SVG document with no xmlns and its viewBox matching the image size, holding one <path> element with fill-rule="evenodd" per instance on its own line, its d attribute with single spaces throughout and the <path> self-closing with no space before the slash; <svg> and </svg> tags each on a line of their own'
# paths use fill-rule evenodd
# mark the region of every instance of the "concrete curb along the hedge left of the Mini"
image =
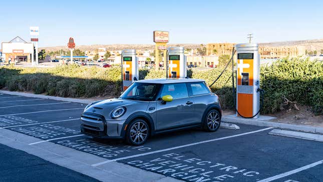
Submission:
<svg viewBox="0 0 323 182">
<path fill-rule="evenodd" d="M 5 91 L 5 90 L 0 90 L 0 93 L 9 94 L 9 95 L 18 95 L 18 96 L 24 96 L 24 97 L 41 98 L 41 99 L 52 99 L 52 100 L 60 100 L 60 101 L 67 101 L 67 102 L 78 102 L 78 103 L 83 103 L 83 104 L 90 104 L 91 102 L 94 102 L 94 100 L 90 100 L 90 99 L 74 99 L 74 98 L 65 98 L 65 97 L 55 97 L 55 96 L 48 96 L 48 95 L 30 94 L 30 93 L 24 93 L 24 92 L 11 92 L 11 91 Z"/>
</svg>

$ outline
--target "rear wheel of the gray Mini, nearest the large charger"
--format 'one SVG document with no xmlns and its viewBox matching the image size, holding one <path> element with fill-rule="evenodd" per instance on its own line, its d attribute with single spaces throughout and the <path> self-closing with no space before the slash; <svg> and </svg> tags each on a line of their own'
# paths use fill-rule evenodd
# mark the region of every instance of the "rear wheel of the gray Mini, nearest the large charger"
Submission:
<svg viewBox="0 0 323 182">
<path fill-rule="evenodd" d="M 203 128 L 205 131 L 214 132 L 219 129 L 221 124 L 221 114 L 215 109 L 211 109 L 207 112 L 204 121 Z"/>
</svg>

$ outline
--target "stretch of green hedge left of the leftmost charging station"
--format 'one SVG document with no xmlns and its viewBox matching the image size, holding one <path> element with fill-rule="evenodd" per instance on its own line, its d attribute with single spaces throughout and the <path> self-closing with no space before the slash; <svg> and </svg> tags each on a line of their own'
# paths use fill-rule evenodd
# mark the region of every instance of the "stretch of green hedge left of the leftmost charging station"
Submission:
<svg viewBox="0 0 323 182">
<path fill-rule="evenodd" d="M 0 69 L 0 88 L 32 91 L 60 97 L 118 96 L 121 90 L 119 67 L 96 68 L 64 65 L 55 68 Z"/>
</svg>

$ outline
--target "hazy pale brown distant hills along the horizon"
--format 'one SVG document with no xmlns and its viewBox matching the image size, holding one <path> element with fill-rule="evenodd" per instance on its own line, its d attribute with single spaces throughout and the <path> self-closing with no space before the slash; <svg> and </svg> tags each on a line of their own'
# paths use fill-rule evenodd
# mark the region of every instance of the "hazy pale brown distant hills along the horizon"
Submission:
<svg viewBox="0 0 323 182">
<path fill-rule="evenodd" d="M 168 44 L 171 46 L 181 46 L 190 49 L 200 48 L 200 44 Z M 304 41 L 283 41 L 283 42 L 271 42 L 271 43 L 259 43 L 259 46 L 305 46 L 306 50 L 317 50 L 318 52 L 323 49 L 323 39 L 316 40 L 304 40 Z M 98 48 L 106 48 L 110 51 L 123 50 L 123 49 L 137 49 L 137 50 L 151 50 L 155 49 L 153 44 L 110 44 L 110 45 L 81 45 L 76 46 L 76 49 L 82 51 L 95 51 Z M 67 46 L 55 46 L 55 47 L 42 47 L 39 49 L 46 49 L 47 52 L 57 51 L 61 49 L 67 50 Z"/>
</svg>

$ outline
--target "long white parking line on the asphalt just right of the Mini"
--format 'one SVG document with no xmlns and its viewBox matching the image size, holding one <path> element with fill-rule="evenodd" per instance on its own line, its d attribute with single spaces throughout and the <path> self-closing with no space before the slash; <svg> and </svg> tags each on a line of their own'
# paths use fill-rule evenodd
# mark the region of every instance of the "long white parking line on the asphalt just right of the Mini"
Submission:
<svg viewBox="0 0 323 182">
<path fill-rule="evenodd" d="M 171 148 L 165 148 L 165 149 L 161 149 L 161 150 L 156 150 L 156 151 L 151 151 L 151 152 L 146 152 L 146 153 L 140 153 L 140 154 L 136 154 L 136 155 L 126 156 L 126 157 L 120 157 L 120 158 L 116 158 L 116 159 L 106 160 L 106 161 L 103 161 L 103 162 L 92 164 L 92 166 L 98 166 L 98 165 L 106 164 L 106 163 L 109 163 L 109 162 L 112 162 L 112 161 L 118 161 L 118 160 L 124 160 L 124 159 L 128 159 L 128 158 L 134 158 L 134 157 L 150 155 L 150 154 L 153 154 L 153 153 L 159 153 L 159 152 L 164 152 L 164 151 L 168 151 L 168 150 L 174 150 L 174 149 L 178 149 L 178 148 L 183 148 L 183 147 L 187 147 L 187 146 L 207 143 L 207 142 L 211 142 L 211 141 L 217 141 L 217 140 L 223 140 L 223 139 L 233 138 L 233 137 L 237 137 L 237 136 L 243 136 L 243 135 L 252 134 L 252 133 L 256 133 L 256 132 L 260 132 L 260 131 L 265 131 L 265 130 L 268 130 L 268 129 L 272 129 L 272 127 L 259 129 L 259 130 L 255 130 L 255 131 L 250 131 L 250 132 L 246 132 L 246 133 L 241 133 L 241 134 L 236 134 L 236 135 L 231 135 L 231 136 L 225 136 L 225 137 L 222 137 L 222 138 L 215 138 L 215 139 L 210 139 L 210 140 L 205 140 L 205 141 L 199 141 L 199 142 L 195 142 L 195 143 L 189 143 L 189 144 L 186 144 L 186 145 L 180 145 L 180 146 L 175 146 L 175 147 L 171 147 Z"/>
</svg>

